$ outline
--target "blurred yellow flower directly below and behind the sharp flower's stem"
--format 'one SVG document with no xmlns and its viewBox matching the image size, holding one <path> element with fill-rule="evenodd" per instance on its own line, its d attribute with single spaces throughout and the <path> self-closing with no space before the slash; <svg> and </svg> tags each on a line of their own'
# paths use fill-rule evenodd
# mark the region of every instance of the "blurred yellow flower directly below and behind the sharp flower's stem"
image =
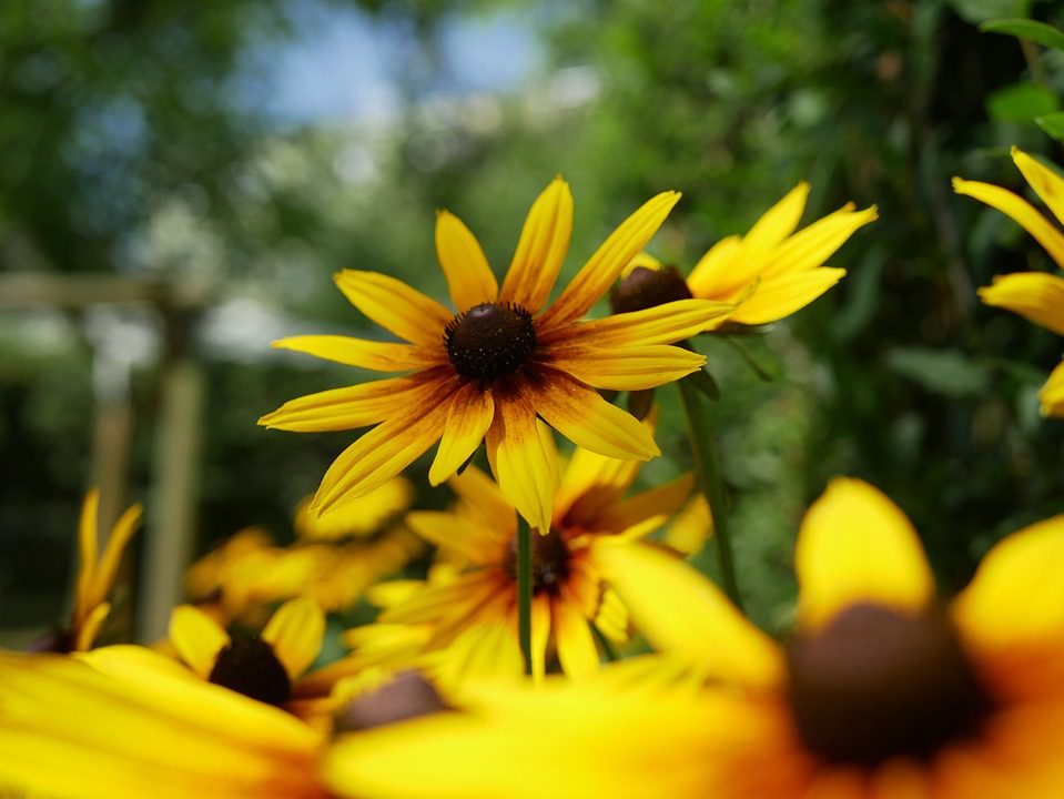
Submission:
<svg viewBox="0 0 1064 799">
<path fill-rule="evenodd" d="M 604 584 L 599 562 L 606 550 L 639 546 L 640 538 L 680 508 L 691 489 L 691 477 L 685 475 L 626 497 L 640 466 L 577 448 L 565 468 L 548 532 L 531 540 L 537 679 L 545 674 L 549 651 L 557 651 L 566 674 L 581 677 L 597 671 L 596 629 L 614 641 L 627 638 L 628 615 Z M 442 552 L 459 555 L 468 568 L 411 589 L 381 615 L 379 624 L 353 630 L 348 641 L 358 646 L 356 659 L 365 661 L 376 654 L 375 663 L 419 666 L 445 685 L 482 674 L 520 674 L 514 507 L 476 467 L 466 468 L 449 485 L 458 495 L 454 510 L 412 513 L 407 523 Z M 439 650 L 446 651 L 420 657 Z"/>
</svg>

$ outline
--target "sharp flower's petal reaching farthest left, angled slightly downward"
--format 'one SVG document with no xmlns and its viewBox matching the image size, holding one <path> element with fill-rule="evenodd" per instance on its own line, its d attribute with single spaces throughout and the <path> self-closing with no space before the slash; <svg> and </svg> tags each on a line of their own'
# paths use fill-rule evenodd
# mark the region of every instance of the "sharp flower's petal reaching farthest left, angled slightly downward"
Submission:
<svg viewBox="0 0 1064 799">
<path fill-rule="evenodd" d="M 411 377 L 330 388 L 290 400 L 260 418 L 259 424 L 295 433 L 357 429 L 402 415 L 409 408 L 428 413 L 439 400 L 440 387 L 450 383 L 448 370 L 434 370 Z"/>
</svg>

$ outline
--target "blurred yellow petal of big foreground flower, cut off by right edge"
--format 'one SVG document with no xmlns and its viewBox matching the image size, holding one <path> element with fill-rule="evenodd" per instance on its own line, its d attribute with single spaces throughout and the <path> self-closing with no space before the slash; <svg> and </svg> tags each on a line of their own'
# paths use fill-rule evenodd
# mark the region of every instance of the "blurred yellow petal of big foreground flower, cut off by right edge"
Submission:
<svg viewBox="0 0 1064 799">
<path fill-rule="evenodd" d="M 966 638 L 986 646 L 1064 636 L 1064 516 L 1013 533 L 991 549 L 954 600 Z"/>
</svg>

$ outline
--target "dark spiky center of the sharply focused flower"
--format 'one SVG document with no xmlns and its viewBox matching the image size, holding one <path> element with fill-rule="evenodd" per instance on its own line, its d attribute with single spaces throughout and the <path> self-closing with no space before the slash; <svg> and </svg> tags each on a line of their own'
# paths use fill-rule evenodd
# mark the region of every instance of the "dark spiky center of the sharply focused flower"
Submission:
<svg viewBox="0 0 1064 799">
<path fill-rule="evenodd" d="M 450 363 L 463 377 L 494 381 L 516 372 L 536 350 L 531 314 L 519 305 L 482 303 L 444 331 Z"/>
</svg>

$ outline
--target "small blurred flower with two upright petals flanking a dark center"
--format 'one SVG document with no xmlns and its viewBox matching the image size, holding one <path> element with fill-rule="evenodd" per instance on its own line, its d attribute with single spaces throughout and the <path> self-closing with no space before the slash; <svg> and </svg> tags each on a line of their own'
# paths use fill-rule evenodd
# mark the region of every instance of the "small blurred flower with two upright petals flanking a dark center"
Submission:
<svg viewBox="0 0 1064 799">
<path fill-rule="evenodd" d="M 293 684 L 317 658 L 324 636 L 325 614 L 306 598 L 277 608 L 259 636 L 230 636 L 192 605 L 174 608 L 170 619 L 170 641 L 196 676 L 276 706 L 292 697 Z"/>
</svg>

